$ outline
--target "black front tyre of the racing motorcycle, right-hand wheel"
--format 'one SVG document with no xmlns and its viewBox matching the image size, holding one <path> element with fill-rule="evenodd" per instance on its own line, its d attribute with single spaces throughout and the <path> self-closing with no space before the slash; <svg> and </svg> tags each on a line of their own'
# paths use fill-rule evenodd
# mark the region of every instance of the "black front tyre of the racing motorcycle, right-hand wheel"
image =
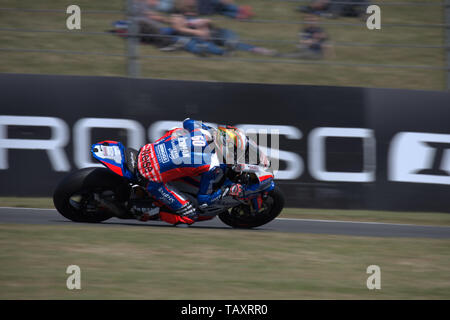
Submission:
<svg viewBox="0 0 450 320">
<path fill-rule="evenodd" d="M 260 227 L 275 219 L 283 210 L 284 196 L 280 188 L 275 187 L 264 200 L 266 210 L 251 214 L 248 206 L 241 205 L 219 213 L 219 219 L 233 228 L 251 229 Z"/>
</svg>

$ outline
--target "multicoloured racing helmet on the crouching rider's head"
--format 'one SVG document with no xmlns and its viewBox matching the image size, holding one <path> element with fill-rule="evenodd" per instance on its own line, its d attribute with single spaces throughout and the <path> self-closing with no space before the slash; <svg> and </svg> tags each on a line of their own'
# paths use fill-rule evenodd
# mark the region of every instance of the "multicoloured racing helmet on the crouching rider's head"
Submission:
<svg viewBox="0 0 450 320">
<path fill-rule="evenodd" d="M 225 163 L 236 164 L 245 162 L 248 139 L 241 129 L 233 126 L 218 127 L 215 132 L 214 142 L 216 152 Z"/>
</svg>

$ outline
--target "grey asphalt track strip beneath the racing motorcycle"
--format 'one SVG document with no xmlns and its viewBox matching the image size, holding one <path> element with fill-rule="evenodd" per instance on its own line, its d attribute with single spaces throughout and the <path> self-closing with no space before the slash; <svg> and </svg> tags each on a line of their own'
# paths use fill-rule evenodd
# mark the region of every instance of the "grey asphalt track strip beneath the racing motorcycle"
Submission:
<svg viewBox="0 0 450 320">
<path fill-rule="evenodd" d="M 38 224 L 38 225 L 83 225 L 72 222 L 61 216 L 52 209 L 31 208 L 0 208 L 0 223 L 14 224 Z M 136 220 L 121 220 L 112 218 L 96 226 L 134 226 L 134 227 L 169 227 L 164 222 L 149 221 L 140 222 Z M 208 229 L 231 229 L 219 218 L 210 221 L 198 222 L 190 228 Z M 313 233 L 327 235 L 348 235 L 368 237 L 407 237 L 407 238 L 436 238 L 450 239 L 450 227 L 447 226 L 420 226 L 411 224 L 391 224 L 378 222 L 354 222 L 335 220 L 312 220 L 312 219 L 283 219 L 274 221 L 253 229 L 254 232 L 290 232 L 290 233 Z"/>
</svg>

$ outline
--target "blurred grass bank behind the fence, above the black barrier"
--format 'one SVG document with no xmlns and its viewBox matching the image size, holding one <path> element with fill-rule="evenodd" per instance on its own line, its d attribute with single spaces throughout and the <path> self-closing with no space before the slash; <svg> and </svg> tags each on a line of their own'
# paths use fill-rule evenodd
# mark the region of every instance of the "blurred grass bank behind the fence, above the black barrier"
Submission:
<svg viewBox="0 0 450 320">
<path fill-rule="evenodd" d="M 237 4 L 253 7 L 254 20 L 283 20 L 301 22 L 304 14 L 298 12 L 296 1 L 282 0 L 236 0 Z M 238 52 L 233 57 L 215 60 L 196 57 L 188 52 L 165 53 L 149 45 L 141 46 L 141 55 L 155 55 L 141 59 L 141 76 L 147 78 L 212 80 L 256 83 L 289 83 L 338 86 L 367 86 L 383 88 L 409 88 L 445 90 L 446 71 L 443 69 L 385 68 L 368 66 L 338 66 L 339 63 L 414 65 L 445 67 L 444 48 L 361 47 L 341 46 L 342 43 L 371 43 L 398 45 L 443 46 L 443 27 L 394 27 L 389 24 L 443 24 L 444 6 L 435 5 L 388 5 L 398 0 L 385 0 L 381 7 L 381 30 L 368 30 L 360 18 L 325 19 L 326 23 L 359 23 L 360 26 L 324 25 L 334 46 L 335 57 L 311 62 L 296 60 L 280 63 L 282 58 L 255 56 Z M 423 0 L 408 2 L 424 3 Z M 439 2 L 428 1 L 431 4 Z M 1 8 L 54 9 L 60 12 L 29 12 L 0 10 L 1 48 L 24 48 L 46 50 L 72 50 L 79 52 L 103 52 L 125 54 L 126 42 L 110 34 L 88 35 L 77 30 L 67 31 L 65 13 L 73 1 L 57 0 L 1 0 Z M 121 13 L 83 13 L 86 10 L 125 11 L 125 0 L 89 1 L 78 0 L 82 10 L 82 32 L 104 32 L 111 23 L 124 19 Z M 254 23 L 211 17 L 215 24 L 237 32 L 241 39 L 268 40 L 258 44 L 287 53 L 295 50 L 299 23 Z M 65 33 L 17 32 L 7 29 L 62 30 Z M 283 40 L 285 42 L 273 42 Z M 174 59 L 183 56 L 189 59 Z M 245 58 L 245 61 L 239 59 Z M 246 58 L 267 60 L 251 62 Z M 71 55 L 61 53 L 16 52 L 0 50 L 0 72 L 126 76 L 126 59 L 122 56 Z M 271 62 L 274 61 L 274 62 Z"/>
</svg>

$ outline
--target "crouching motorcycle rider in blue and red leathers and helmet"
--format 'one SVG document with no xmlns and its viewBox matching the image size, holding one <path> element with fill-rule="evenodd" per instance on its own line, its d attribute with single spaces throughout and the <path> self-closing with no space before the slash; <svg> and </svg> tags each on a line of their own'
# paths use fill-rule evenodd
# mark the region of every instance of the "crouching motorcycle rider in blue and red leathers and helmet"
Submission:
<svg viewBox="0 0 450 320">
<path fill-rule="evenodd" d="M 154 143 L 143 146 L 138 154 L 139 173 L 148 180 L 149 194 L 170 211 L 162 209 L 161 220 L 190 225 L 199 219 L 191 201 L 171 186 L 170 181 L 200 176 L 200 181 L 191 180 L 199 186 L 199 206 L 210 205 L 226 195 L 242 196 L 242 186 L 229 180 L 221 189 L 211 190 L 218 176 L 234 164 L 233 161 L 223 163 L 224 157 L 245 154 L 248 145 L 245 134 L 235 127 L 215 129 L 188 118 L 183 121 L 183 128 L 172 129 Z"/>
</svg>

